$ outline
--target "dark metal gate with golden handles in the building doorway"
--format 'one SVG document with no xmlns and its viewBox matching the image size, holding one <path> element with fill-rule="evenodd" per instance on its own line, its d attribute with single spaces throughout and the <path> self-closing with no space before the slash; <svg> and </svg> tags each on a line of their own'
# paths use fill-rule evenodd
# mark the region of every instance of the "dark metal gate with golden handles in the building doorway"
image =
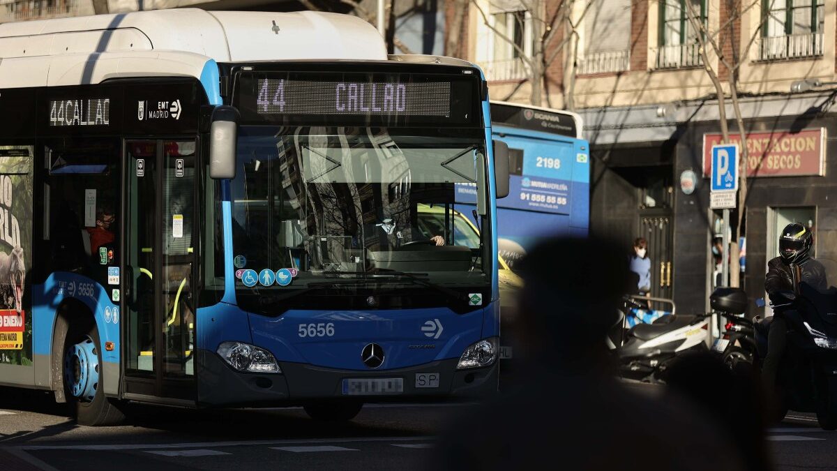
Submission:
<svg viewBox="0 0 837 471">
<path fill-rule="evenodd" d="M 674 258 L 671 244 L 671 217 L 664 215 L 640 215 L 639 229 L 641 236 L 648 241 L 648 256 L 651 259 L 651 296 L 654 298 L 672 298 L 674 292 L 671 281 L 674 279 L 671 262 Z"/>
</svg>

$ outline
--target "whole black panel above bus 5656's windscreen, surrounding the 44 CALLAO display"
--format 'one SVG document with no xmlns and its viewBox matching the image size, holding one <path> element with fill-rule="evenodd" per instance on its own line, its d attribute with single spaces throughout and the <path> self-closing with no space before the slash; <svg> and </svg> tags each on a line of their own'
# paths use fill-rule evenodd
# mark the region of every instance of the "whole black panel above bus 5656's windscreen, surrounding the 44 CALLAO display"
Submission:
<svg viewBox="0 0 837 471">
<path fill-rule="evenodd" d="M 232 104 L 245 125 L 484 126 L 476 75 L 333 69 L 242 71 Z"/>
</svg>

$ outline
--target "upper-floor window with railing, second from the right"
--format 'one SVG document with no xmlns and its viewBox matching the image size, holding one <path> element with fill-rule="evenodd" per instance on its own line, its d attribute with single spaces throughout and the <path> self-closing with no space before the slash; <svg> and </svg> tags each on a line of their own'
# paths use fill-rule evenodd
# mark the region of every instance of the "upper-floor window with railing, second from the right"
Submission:
<svg viewBox="0 0 837 471">
<path fill-rule="evenodd" d="M 689 21 L 688 7 L 706 24 L 706 0 L 660 0 L 659 46 L 655 69 L 694 67 L 702 64 L 698 31 Z"/>
</svg>

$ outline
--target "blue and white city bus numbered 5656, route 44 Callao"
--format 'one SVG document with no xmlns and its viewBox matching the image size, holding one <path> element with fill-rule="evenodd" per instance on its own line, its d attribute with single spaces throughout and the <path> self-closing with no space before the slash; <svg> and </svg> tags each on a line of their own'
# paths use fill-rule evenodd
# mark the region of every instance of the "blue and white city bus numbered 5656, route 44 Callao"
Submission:
<svg viewBox="0 0 837 471">
<path fill-rule="evenodd" d="M 90 425 L 496 391 L 508 159 L 475 65 L 311 12 L 6 23 L 0 51 L 0 385 Z"/>
</svg>

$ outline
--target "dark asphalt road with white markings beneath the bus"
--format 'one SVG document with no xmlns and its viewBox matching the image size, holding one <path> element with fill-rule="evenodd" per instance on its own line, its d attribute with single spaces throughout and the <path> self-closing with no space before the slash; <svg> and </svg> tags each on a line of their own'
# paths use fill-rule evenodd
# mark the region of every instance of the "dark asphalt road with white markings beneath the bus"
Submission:
<svg viewBox="0 0 837 471">
<path fill-rule="evenodd" d="M 51 396 L 0 391 L 0 470 L 432 468 L 439 430 L 468 405 L 372 405 L 352 422 L 301 409 L 142 407 L 121 427 L 80 427 Z M 780 470 L 837 469 L 837 432 L 791 412 L 768 440 Z"/>
</svg>

